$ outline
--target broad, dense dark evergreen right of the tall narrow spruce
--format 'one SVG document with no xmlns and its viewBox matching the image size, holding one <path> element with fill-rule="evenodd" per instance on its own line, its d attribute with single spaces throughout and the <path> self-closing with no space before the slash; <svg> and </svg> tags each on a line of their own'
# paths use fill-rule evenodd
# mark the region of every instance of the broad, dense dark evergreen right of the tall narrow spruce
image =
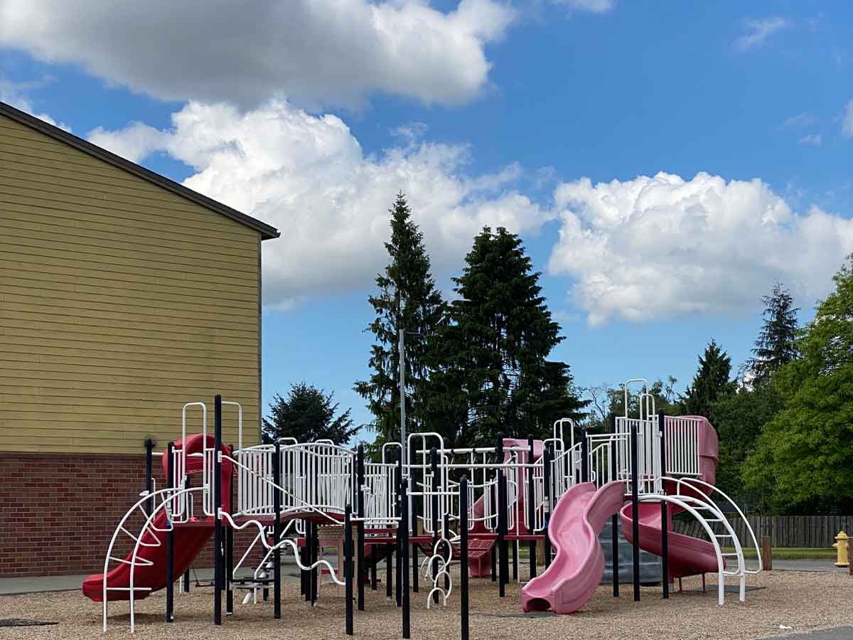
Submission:
<svg viewBox="0 0 853 640">
<path fill-rule="evenodd" d="M 519 237 L 485 227 L 466 263 L 451 322 L 434 340 L 431 428 L 461 445 L 542 435 L 557 418 L 579 417 L 588 403 L 568 365 L 548 360 L 560 325 Z"/>
</svg>

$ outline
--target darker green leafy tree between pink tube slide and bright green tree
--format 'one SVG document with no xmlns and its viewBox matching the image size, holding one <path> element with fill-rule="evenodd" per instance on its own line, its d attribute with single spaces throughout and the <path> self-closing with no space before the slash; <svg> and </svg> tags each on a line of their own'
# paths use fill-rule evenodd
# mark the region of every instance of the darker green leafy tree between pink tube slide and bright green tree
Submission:
<svg viewBox="0 0 853 640">
<path fill-rule="evenodd" d="M 751 453 L 763 426 L 782 408 L 773 385 L 750 389 L 741 387 L 711 403 L 711 423 L 720 439 L 717 486 L 736 502 L 760 502 L 745 491 L 743 464 Z"/>
</svg>

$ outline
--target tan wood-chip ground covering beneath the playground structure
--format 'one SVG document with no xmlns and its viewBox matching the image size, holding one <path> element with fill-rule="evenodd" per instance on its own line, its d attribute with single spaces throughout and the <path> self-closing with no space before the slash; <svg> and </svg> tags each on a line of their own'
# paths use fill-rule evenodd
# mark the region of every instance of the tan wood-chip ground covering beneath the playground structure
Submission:
<svg viewBox="0 0 853 640">
<path fill-rule="evenodd" d="M 630 593 L 614 599 L 609 587 L 600 587 L 577 614 L 520 614 L 520 588 L 511 583 L 507 597 L 496 597 L 489 579 L 471 582 L 471 637 L 497 640 L 527 637 L 531 640 L 580 638 L 610 640 L 631 637 L 651 640 L 753 640 L 776 637 L 811 629 L 850 623 L 850 576 L 838 573 L 764 572 L 754 576 L 746 602 L 731 602 L 724 614 L 714 591 L 699 591 L 699 579 L 685 579 L 685 592 L 673 593 L 670 602 L 661 602 L 659 588 L 644 587 L 641 602 L 631 602 Z M 760 587 L 767 587 L 762 589 Z M 137 619 L 148 623 L 137 630 L 142 638 L 179 640 L 187 637 L 252 638 L 253 640 L 319 640 L 343 635 L 342 592 L 333 585 L 322 585 L 320 602 L 310 608 L 299 598 L 299 581 L 283 584 L 281 620 L 273 620 L 270 603 L 235 604 L 235 616 L 223 625 L 211 625 L 210 591 L 197 590 L 177 594 L 175 614 L 179 624 L 162 621 L 164 593 L 153 594 L 140 602 Z M 421 602 L 426 594 L 412 594 Z M 87 605 L 79 592 L 41 593 L 26 596 L 0 596 L 0 619 L 55 621 L 58 625 L 5 629 L 9 637 L 38 640 L 97 638 L 101 633 L 100 611 Z M 459 600 L 451 598 L 447 608 L 412 607 L 412 637 L 419 640 L 444 640 L 458 637 Z M 127 637 L 127 612 L 116 608 L 111 616 L 107 637 Z M 387 640 L 399 637 L 399 610 L 386 602 L 385 592 L 366 592 L 366 611 L 356 613 L 355 637 Z M 780 629 L 780 625 L 792 629 Z M 9 635 L 11 634 L 11 635 Z"/>
</svg>

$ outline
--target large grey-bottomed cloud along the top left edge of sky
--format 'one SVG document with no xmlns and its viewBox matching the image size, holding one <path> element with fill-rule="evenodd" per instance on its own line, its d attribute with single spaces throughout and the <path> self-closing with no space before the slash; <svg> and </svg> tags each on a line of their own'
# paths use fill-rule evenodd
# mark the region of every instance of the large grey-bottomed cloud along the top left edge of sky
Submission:
<svg viewBox="0 0 853 640">
<path fill-rule="evenodd" d="M 485 46 L 514 15 L 500 0 L 3 0 L 0 45 L 164 100 L 457 104 L 487 85 Z"/>
</svg>

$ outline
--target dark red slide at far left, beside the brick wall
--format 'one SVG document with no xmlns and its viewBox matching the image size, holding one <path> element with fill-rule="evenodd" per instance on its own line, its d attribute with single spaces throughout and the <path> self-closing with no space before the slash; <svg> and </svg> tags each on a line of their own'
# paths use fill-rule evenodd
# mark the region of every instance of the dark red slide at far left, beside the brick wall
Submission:
<svg viewBox="0 0 853 640">
<path fill-rule="evenodd" d="M 207 436 L 207 440 L 207 445 L 212 447 L 213 436 Z M 188 455 L 190 453 L 199 453 L 202 451 L 202 443 L 203 436 L 200 433 L 187 438 L 186 447 Z M 183 441 L 179 440 L 175 443 L 176 449 L 180 449 L 182 446 Z M 229 449 L 224 446 L 223 451 L 229 453 Z M 167 463 L 168 460 L 164 455 L 164 474 L 166 473 L 165 467 Z M 201 458 L 187 457 L 187 472 L 192 473 L 200 470 Z M 222 495 L 223 509 L 229 511 L 231 495 L 231 463 L 227 460 L 222 463 Z M 165 529 L 166 525 L 165 510 L 160 510 L 160 512 L 154 516 L 154 527 L 157 529 Z M 175 527 L 175 564 L 172 575 L 175 576 L 176 579 L 189 568 L 194 561 L 195 556 L 198 556 L 200 550 L 202 550 L 207 543 L 207 540 L 211 538 L 212 533 L 212 519 L 208 519 L 206 521 L 193 519 L 193 521 L 185 525 L 177 525 L 177 527 Z M 145 587 L 146 591 L 135 591 L 133 596 L 135 600 L 141 600 L 142 598 L 148 597 L 148 594 L 151 592 L 165 588 L 165 538 L 165 532 L 157 532 L 156 538 L 154 538 L 154 532 L 150 529 L 146 530 L 146 532 L 142 534 L 142 543 L 154 544 L 159 539 L 160 544 L 157 546 L 140 545 L 139 552 L 136 555 L 136 569 L 133 576 L 133 585 L 134 587 Z M 131 561 L 131 555 L 126 557 L 126 562 L 121 562 L 118 567 L 113 568 L 113 570 L 107 573 L 107 587 L 119 587 L 124 589 L 130 587 L 131 565 L 129 562 Z M 148 562 L 150 562 L 150 565 Z M 94 600 L 95 602 L 102 602 L 103 579 L 103 573 L 95 573 L 86 578 L 83 581 L 84 596 Z M 150 591 L 148 591 L 148 589 L 150 589 Z M 107 591 L 107 600 L 128 600 L 130 595 L 130 591 Z"/>
</svg>

